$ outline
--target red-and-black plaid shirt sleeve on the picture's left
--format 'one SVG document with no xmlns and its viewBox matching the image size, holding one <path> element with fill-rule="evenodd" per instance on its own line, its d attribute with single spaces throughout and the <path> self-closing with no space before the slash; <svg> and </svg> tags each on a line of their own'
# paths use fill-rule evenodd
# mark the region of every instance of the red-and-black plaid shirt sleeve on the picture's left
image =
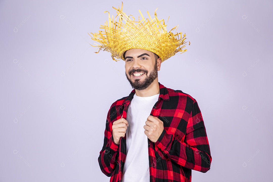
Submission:
<svg viewBox="0 0 273 182">
<path fill-rule="evenodd" d="M 98 158 L 100 170 L 110 177 L 118 164 L 119 145 L 114 142 L 112 135 L 112 123 L 110 121 L 110 110 L 106 119 L 104 131 L 104 142 Z"/>
</svg>

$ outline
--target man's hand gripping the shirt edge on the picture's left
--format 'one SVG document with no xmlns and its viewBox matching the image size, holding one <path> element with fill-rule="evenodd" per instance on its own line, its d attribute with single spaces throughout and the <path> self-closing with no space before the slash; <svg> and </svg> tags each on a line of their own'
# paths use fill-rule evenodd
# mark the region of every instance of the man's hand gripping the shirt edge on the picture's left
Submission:
<svg viewBox="0 0 273 182">
<path fill-rule="evenodd" d="M 112 126 L 113 131 L 113 139 L 115 144 L 119 145 L 120 143 L 120 137 L 124 137 L 127 127 L 129 126 L 128 121 L 126 121 L 124 118 L 121 118 L 117 121 L 114 121 Z"/>
</svg>

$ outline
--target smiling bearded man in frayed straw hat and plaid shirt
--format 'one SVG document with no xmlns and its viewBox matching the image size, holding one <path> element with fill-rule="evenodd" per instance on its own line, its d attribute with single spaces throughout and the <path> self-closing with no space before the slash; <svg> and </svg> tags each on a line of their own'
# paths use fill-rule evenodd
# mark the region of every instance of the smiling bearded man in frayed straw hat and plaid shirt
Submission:
<svg viewBox="0 0 273 182">
<path fill-rule="evenodd" d="M 105 31 L 92 34 L 92 39 L 102 44 L 100 50 L 111 52 L 113 59 L 125 61 L 133 90 L 108 111 L 100 169 L 111 176 L 110 182 L 191 181 L 191 170 L 207 172 L 212 160 L 203 118 L 194 98 L 158 82 L 161 63 L 178 51 L 185 52 L 185 34 L 179 39 L 179 34 L 166 32 L 164 20 L 159 21 L 156 13 L 153 20 L 145 20 L 141 14 L 143 20 L 136 23 L 122 7 L 116 10 L 120 21 L 113 22 L 109 15 Z M 154 25 L 165 31 L 163 35 L 158 29 L 153 31 Z M 120 31 L 121 26 L 126 29 Z M 165 38 L 158 42 L 143 38 L 150 35 Z"/>
</svg>

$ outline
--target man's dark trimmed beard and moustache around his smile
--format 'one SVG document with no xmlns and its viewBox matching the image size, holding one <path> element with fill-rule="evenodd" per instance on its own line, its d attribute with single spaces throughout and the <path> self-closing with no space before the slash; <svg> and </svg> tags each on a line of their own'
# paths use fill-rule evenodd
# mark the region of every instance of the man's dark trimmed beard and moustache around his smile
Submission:
<svg viewBox="0 0 273 182">
<path fill-rule="evenodd" d="M 129 71 L 128 74 L 131 75 L 134 72 L 146 73 L 146 78 L 143 80 L 143 82 L 141 82 L 140 79 L 135 79 L 135 82 L 132 82 L 132 80 L 129 79 L 128 75 L 125 72 L 127 80 L 130 82 L 133 89 L 144 90 L 148 88 L 153 83 L 153 81 L 158 77 L 157 62 L 155 62 L 154 70 L 149 74 L 149 76 L 147 75 L 147 70 L 141 70 L 140 68 L 132 69 Z"/>
</svg>

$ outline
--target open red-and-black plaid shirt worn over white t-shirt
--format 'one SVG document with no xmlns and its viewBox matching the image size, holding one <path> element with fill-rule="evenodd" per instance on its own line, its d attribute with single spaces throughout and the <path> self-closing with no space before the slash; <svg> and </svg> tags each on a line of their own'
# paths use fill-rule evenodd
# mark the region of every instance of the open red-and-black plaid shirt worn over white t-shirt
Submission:
<svg viewBox="0 0 273 182">
<path fill-rule="evenodd" d="M 158 82 L 159 83 L 159 82 Z M 115 144 L 113 122 L 126 119 L 126 111 L 133 99 L 129 96 L 114 102 L 107 115 L 104 143 L 98 158 L 101 171 L 110 182 L 121 182 L 126 159 L 126 134 Z M 155 143 L 148 139 L 150 182 L 191 181 L 191 170 L 207 172 L 212 157 L 203 118 L 194 98 L 180 90 L 166 88 L 159 83 L 159 98 L 151 114 L 164 123 L 164 130 Z"/>
</svg>

